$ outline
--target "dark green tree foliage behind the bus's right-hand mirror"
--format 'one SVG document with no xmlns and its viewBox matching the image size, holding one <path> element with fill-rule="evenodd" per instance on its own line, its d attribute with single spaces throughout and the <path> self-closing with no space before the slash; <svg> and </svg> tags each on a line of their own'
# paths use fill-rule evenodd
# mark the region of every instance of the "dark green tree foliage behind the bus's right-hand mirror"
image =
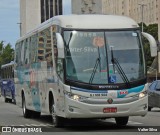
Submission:
<svg viewBox="0 0 160 135">
<path fill-rule="evenodd" d="M 141 28 L 142 23 L 140 23 L 139 26 Z M 150 24 L 148 26 L 146 24 L 143 24 L 143 31 L 151 34 L 158 42 L 158 24 Z M 148 40 L 146 40 L 145 38 L 142 38 L 142 40 L 143 40 L 143 44 L 144 44 L 146 65 L 150 67 L 153 60 L 154 60 L 154 57 L 151 57 L 150 46 L 149 46 Z"/>
</svg>

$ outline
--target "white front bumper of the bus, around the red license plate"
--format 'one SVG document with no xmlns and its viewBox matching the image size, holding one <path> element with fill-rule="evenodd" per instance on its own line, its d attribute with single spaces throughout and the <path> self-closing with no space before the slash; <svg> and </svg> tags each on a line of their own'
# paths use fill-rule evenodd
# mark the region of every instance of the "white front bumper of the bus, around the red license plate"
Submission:
<svg viewBox="0 0 160 135">
<path fill-rule="evenodd" d="M 66 118 L 145 116 L 148 110 L 148 96 L 125 104 L 87 104 L 68 97 L 65 97 L 65 103 Z M 106 108 L 116 108 L 116 112 L 105 113 L 103 110 Z"/>
</svg>

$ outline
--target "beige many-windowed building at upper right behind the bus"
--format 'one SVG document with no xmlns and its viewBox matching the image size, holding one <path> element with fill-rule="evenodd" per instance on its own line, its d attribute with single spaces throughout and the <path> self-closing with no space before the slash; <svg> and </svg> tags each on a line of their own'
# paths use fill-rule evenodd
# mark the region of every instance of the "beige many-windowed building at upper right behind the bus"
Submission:
<svg viewBox="0 0 160 135">
<path fill-rule="evenodd" d="M 160 41 L 160 0 L 102 0 L 104 14 L 118 14 L 147 25 L 158 23 Z"/>
</svg>

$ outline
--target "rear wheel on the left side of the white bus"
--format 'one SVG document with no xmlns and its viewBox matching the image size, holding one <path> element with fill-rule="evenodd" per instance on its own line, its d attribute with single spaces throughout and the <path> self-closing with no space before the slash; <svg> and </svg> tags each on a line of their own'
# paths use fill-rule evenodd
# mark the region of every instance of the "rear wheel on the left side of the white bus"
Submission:
<svg viewBox="0 0 160 135">
<path fill-rule="evenodd" d="M 22 96 L 22 109 L 24 118 L 30 118 L 32 116 L 32 111 L 26 108 L 25 96 Z"/>
</svg>

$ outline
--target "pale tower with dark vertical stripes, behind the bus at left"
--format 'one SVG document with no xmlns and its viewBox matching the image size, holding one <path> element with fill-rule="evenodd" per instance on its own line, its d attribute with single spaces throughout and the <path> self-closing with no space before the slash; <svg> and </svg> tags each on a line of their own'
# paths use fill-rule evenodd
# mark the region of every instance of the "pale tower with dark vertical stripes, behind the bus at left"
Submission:
<svg viewBox="0 0 160 135">
<path fill-rule="evenodd" d="M 62 14 L 62 0 L 20 0 L 20 35 Z"/>
</svg>

